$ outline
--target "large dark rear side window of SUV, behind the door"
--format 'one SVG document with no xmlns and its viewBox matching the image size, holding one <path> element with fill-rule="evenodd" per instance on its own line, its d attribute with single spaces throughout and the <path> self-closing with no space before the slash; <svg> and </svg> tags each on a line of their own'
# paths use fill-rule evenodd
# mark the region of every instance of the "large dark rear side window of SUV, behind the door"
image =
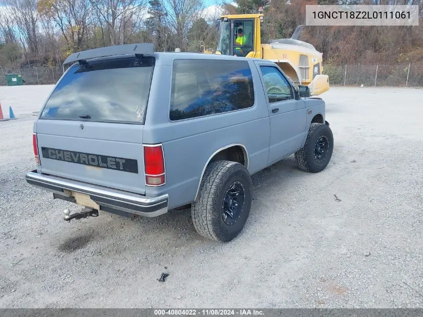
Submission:
<svg viewBox="0 0 423 317">
<path fill-rule="evenodd" d="M 254 87 L 247 61 L 175 60 L 172 70 L 172 121 L 250 108 Z"/>
</svg>

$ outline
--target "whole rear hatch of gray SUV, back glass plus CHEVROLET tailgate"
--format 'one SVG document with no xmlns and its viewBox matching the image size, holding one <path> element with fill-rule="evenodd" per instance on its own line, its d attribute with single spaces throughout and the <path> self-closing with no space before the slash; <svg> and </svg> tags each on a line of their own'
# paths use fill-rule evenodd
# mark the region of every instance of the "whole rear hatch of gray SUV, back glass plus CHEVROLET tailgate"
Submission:
<svg viewBox="0 0 423 317">
<path fill-rule="evenodd" d="M 145 194 L 143 128 L 154 59 L 73 65 L 36 124 L 41 172 Z"/>
</svg>

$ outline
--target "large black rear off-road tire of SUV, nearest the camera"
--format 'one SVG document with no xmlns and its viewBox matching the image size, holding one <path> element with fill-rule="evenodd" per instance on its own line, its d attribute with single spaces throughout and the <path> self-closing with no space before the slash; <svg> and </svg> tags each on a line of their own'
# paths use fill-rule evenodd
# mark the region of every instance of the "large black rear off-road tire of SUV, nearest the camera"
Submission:
<svg viewBox="0 0 423 317">
<path fill-rule="evenodd" d="M 244 198 L 239 218 L 228 225 L 222 214 L 226 191 L 233 182 L 242 187 Z M 239 184 L 238 184 L 239 183 Z M 197 199 L 191 205 L 191 217 L 197 232 L 205 238 L 228 242 L 243 229 L 251 208 L 251 176 L 246 167 L 237 162 L 215 161 L 210 163 L 201 180 Z"/>
</svg>

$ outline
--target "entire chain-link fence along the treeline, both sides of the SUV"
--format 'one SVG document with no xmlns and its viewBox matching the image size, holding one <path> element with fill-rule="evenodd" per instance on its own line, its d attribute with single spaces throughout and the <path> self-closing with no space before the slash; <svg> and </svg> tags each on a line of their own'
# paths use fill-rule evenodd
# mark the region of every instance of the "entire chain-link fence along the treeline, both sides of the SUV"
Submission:
<svg viewBox="0 0 423 317">
<path fill-rule="evenodd" d="M 333 86 L 423 87 L 423 63 L 395 65 L 323 65 Z M 22 74 L 24 85 L 56 84 L 63 75 L 62 67 L 27 66 L 21 69 L 0 66 L 0 85 L 6 85 L 6 74 Z"/>
</svg>

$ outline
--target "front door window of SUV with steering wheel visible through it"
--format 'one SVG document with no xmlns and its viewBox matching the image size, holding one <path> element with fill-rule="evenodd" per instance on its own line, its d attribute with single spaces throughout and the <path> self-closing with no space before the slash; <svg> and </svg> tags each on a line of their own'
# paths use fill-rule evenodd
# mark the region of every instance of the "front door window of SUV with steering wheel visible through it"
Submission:
<svg viewBox="0 0 423 317">
<path fill-rule="evenodd" d="M 269 103 L 294 99 L 291 85 L 282 73 L 272 66 L 260 66 Z"/>
</svg>

